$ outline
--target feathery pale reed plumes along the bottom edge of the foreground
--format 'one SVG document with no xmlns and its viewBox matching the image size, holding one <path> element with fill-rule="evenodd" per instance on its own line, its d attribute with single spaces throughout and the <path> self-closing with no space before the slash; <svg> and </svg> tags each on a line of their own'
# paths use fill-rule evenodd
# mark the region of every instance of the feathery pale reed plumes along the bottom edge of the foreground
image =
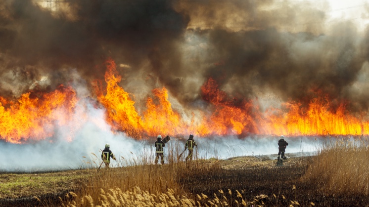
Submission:
<svg viewBox="0 0 369 207">
<path fill-rule="evenodd" d="M 134 187 L 132 190 L 122 191 L 120 188 L 108 189 L 104 191 L 100 189 L 98 200 L 93 200 L 92 196 L 85 195 L 80 199 L 73 195 L 73 200 L 65 202 L 63 207 L 228 207 L 228 206 L 264 206 L 263 200 L 269 199 L 266 195 L 256 196 L 253 201 L 246 201 L 242 195 L 237 192 L 238 200 L 231 201 L 224 195 L 218 198 L 214 194 L 214 198 L 201 194 L 196 195 L 196 199 L 187 198 L 186 196 L 176 196 L 173 189 L 167 189 L 165 193 L 150 194 L 148 191 L 142 191 L 139 187 Z M 223 192 L 222 192 L 223 195 Z M 231 190 L 229 190 L 229 195 Z M 70 197 L 69 195 L 67 197 Z M 79 201 L 76 201 L 79 200 Z M 96 205 L 95 203 L 100 203 Z M 297 202 L 296 202 L 297 203 Z"/>
</svg>

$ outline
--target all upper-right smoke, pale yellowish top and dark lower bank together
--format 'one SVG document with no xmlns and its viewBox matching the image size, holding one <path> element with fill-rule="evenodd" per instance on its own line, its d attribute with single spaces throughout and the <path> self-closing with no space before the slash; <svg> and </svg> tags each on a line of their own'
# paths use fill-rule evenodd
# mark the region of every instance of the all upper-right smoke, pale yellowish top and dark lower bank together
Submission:
<svg viewBox="0 0 369 207">
<path fill-rule="evenodd" d="M 321 91 L 334 103 L 349 100 L 350 111 L 368 110 L 363 88 L 352 89 L 367 67 L 368 34 L 352 20 L 329 20 L 327 2 L 279 3 L 184 1 L 191 32 L 210 48 L 204 78 L 246 98 L 273 92 L 307 104 Z"/>
</svg>

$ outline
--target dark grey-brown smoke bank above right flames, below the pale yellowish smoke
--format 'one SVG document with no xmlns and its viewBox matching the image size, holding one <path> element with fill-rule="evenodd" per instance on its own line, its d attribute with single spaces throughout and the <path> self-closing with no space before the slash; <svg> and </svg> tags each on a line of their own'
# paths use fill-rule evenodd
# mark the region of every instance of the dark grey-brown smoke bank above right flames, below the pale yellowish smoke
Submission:
<svg viewBox="0 0 369 207">
<path fill-rule="evenodd" d="M 365 62 L 355 29 L 347 24 L 337 28 L 338 37 L 279 33 L 275 28 L 236 34 L 209 31 L 222 63 L 207 68 L 206 75 L 221 84 L 233 79 L 233 88 L 245 95 L 250 93 L 247 88 L 258 85 L 272 88 L 283 99 L 301 100 L 311 89 L 343 98 L 343 89 L 356 81 Z"/>
</svg>

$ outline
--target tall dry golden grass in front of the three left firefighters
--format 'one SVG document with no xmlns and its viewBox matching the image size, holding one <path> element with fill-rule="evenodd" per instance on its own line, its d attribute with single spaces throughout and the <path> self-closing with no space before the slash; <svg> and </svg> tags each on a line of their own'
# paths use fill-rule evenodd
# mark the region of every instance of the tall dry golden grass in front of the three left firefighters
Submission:
<svg viewBox="0 0 369 207">
<path fill-rule="evenodd" d="M 183 144 L 170 141 L 165 147 L 165 165 L 154 164 L 154 149 L 146 149 L 147 154 L 136 155 L 135 159 L 117 158 L 115 167 L 101 168 L 96 174 L 81 182 L 81 188 L 70 192 L 62 199 L 65 207 L 94 207 L 94 206 L 219 206 L 239 204 L 246 206 L 240 192 L 233 192 L 238 199 L 232 197 L 229 190 L 221 198 L 209 198 L 207 195 L 190 195 L 185 191 L 183 180 L 193 172 L 208 174 L 220 169 L 217 159 L 212 161 L 199 158 L 194 150 L 193 161 L 185 163 L 187 154 L 179 158 L 184 150 Z M 131 152 L 132 153 L 132 152 Z M 132 153 L 133 154 L 133 153 Z M 134 155 L 135 156 L 135 155 Z M 92 154 L 86 161 L 90 168 L 98 168 L 99 155 Z M 114 161 L 112 161 L 114 162 Z M 190 185 L 187 183 L 185 185 Z M 193 198 L 195 196 L 195 198 Z M 259 198 L 259 197 L 258 197 Z M 264 199 L 264 197 L 260 197 Z M 255 203 L 259 201 L 251 201 Z M 45 206 L 49 206 L 45 204 Z"/>
</svg>

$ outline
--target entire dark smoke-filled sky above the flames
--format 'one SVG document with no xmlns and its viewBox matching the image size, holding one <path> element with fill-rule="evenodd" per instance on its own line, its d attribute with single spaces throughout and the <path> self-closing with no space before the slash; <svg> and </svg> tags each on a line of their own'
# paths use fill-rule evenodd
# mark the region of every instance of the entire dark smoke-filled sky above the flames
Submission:
<svg viewBox="0 0 369 207">
<path fill-rule="evenodd" d="M 88 83 L 103 79 L 112 57 L 130 66 L 118 68 L 126 90 L 165 86 L 184 106 L 212 77 L 245 98 L 307 100 L 319 90 L 368 110 L 360 77 L 369 73 L 369 30 L 330 21 L 324 0 L 64 0 L 54 12 L 35 2 L 0 0 L 2 96 L 43 76 L 52 90 L 71 80 L 70 69 Z"/>
</svg>

